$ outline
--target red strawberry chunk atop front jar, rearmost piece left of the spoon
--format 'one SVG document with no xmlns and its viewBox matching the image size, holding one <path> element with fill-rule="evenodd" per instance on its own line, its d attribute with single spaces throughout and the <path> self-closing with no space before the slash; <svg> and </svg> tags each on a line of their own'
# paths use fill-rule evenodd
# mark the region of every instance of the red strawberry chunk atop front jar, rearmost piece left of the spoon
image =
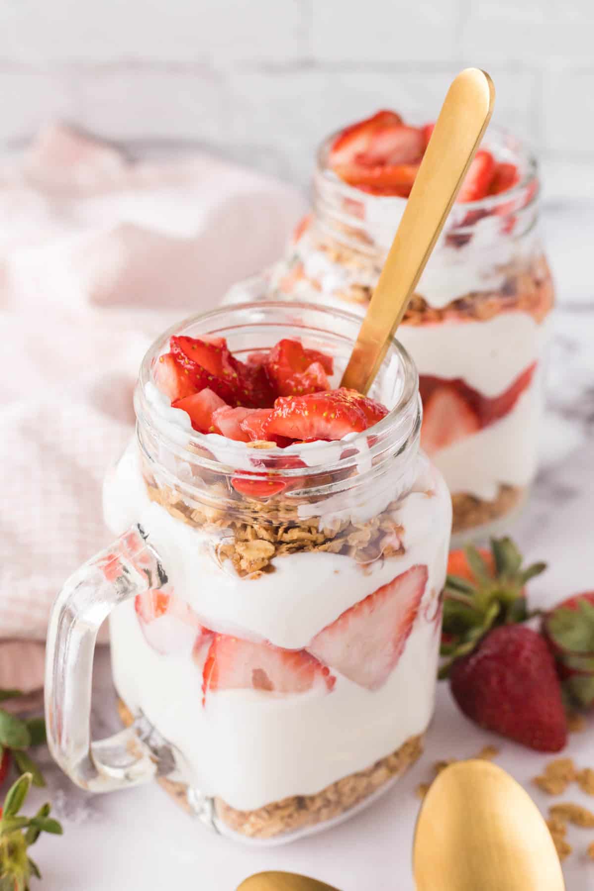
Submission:
<svg viewBox="0 0 594 891">
<path fill-rule="evenodd" d="M 300 396 L 330 389 L 326 372 L 333 370 L 331 356 L 305 349 L 298 340 L 279 340 L 264 360 L 277 396 Z"/>
</svg>

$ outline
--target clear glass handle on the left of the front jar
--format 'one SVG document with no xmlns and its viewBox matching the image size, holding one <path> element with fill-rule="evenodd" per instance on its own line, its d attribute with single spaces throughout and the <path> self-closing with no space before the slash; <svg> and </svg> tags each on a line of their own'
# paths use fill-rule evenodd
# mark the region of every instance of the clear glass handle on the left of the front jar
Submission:
<svg viewBox="0 0 594 891">
<path fill-rule="evenodd" d="M 167 574 L 139 525 L 69 577 L 53 603 L 45 658 L 45 725 L 50 751 L 70 779 L 109 792 L 164 772 L 159 756 L 134 726 L 92 741 L 91 682 L 95 642 L 111 610 L 136 594 L 160 588 Z"/>
</svg>

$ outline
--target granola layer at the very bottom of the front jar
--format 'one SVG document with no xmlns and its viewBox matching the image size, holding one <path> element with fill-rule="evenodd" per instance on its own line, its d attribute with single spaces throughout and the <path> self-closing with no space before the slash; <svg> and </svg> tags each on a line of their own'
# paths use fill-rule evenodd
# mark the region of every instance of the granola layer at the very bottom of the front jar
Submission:
<svg viewBox="0 0 594 891">
<path fill-rule="evenodd" d="M 254 811 L 238 811 L 216 798 L 216 815 L 230 830 L 247 838 L 274 838 L 333 820 L 414 764 L 423 751 L 424 738 L 425 734 L 412 736 L 367 770 L 351 773 L 316 795 L 283 798 Z"/>
</svg>

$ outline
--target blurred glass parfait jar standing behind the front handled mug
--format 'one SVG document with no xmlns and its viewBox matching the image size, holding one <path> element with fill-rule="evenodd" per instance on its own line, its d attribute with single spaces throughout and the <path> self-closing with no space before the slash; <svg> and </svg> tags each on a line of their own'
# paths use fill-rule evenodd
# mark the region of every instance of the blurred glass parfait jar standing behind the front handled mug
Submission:
<svg viewBox="0 0 594 891">
<path fill-rule="evenodd" d="M 338 179 L 328 166 L 334 138 L 318 152 L 313 212 L 267 275 L 268 296 L 363 315 L 406 200 Z M 452 493 L 453 532 L 465 537 L 507 523 L 534 477 L 553 305 L 536 162 L 495 127 L 483 147 L 515 164 L 519 182 L 454 206 L 398 331 L 419 370 L 421 446 Z M 245 293 L 236 287 L 228 299 Z"/>
</svg>

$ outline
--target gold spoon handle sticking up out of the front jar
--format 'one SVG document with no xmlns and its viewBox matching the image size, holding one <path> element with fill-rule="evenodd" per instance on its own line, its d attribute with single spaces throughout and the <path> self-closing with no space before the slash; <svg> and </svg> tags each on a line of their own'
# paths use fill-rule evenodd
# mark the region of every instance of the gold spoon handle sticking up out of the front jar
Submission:
<svg viewBox="0 0 594 891">
<path fill-rule="evenodd" d="M 480 69 L 464 69 L 452 81 L 341 387 L 363 394 L 370 388 L 483 138 L 494 98 L 492 80 Z"/>
</svg>

